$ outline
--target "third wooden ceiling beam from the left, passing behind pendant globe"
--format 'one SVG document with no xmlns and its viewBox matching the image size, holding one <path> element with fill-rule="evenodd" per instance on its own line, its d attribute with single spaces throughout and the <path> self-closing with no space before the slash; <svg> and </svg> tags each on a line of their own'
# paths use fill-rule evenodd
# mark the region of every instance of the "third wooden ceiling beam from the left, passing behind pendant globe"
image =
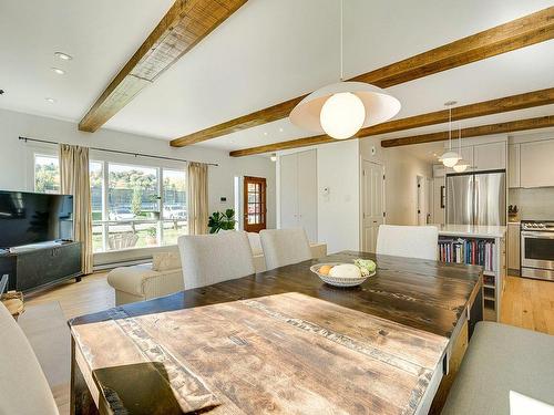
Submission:
<svg viewBox="0 0 554 415">
<path fill-rule="evenodd" d="M 502 98 L 483 101 L 452 108 L 452 120 L 468 120 L 484 115 L 500 114 L 510 111 L 531 108 L 554 104 L 554 87 L 527 92 L 524 94 L 505 96 Z M 428 125 L 442 124 L 449 121 L 448 110 L 435 111 L 433 113 L 414 115 L 407 118 L 393 120 L 371 127 L 360 129 L 352 138 L 363 138 L 378 134 L 394 133 L 404 129 L 424 127 Z M 281 149 L 307 147 L 317 144 L 334 143 L 335 139 L 328 135 L 317 135 L 307 138 L 290 139 L 281 143 L 268 144 L 259 147 L 244 148 L 230 152 L 233 157 L 252 156 L 263 153 L 275 153 Z"/>
</svg>

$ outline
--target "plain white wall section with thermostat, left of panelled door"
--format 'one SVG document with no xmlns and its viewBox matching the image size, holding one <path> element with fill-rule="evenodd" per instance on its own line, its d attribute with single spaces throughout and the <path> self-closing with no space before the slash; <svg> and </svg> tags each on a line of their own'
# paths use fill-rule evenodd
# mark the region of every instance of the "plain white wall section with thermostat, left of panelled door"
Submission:
<svg viewBox="0 0 554 415">
<path fill-rule="evenodd" d="M 359 250 L 360 163 L 357 139 L 317 147 L 318 238 L 329 252 Z M 324 188 L 329 194 L 324 195 Z"/>
</svg>

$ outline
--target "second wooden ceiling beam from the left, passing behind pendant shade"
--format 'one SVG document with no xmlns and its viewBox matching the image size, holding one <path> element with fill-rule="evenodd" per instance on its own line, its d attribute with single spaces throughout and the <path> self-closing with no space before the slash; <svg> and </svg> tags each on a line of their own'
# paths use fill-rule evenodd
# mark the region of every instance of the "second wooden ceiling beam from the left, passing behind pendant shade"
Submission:
<svg viewBox="0 0 554 415">
<path fill-rule="evenodd" d="M 349 81 L 389 87 L 550 39 L 554 39 L 554 7 L 358 75 Z M 183 147 L 285 118 L 302 98 L 304 96 L 299 96 L 175 138 L 171 145 Z"/>
</svg>

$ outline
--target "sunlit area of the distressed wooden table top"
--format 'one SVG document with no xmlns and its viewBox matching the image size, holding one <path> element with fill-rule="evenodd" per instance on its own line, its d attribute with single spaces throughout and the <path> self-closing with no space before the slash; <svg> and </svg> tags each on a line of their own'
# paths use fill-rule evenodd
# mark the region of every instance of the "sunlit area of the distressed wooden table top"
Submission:
<svg viewBox="0 0 554 415">
<path fill-rule="evenodd" d="M 448 344 L 299 293 L 136 318 L 115 311 L 73 334 L 93 371 L 135 365 L 141 378 L 140 364 L 156 362 L 183 411 L 213 414 L 411 414 Z M 99 384 L 114 388 L 110 381 Z"/>
</svg>

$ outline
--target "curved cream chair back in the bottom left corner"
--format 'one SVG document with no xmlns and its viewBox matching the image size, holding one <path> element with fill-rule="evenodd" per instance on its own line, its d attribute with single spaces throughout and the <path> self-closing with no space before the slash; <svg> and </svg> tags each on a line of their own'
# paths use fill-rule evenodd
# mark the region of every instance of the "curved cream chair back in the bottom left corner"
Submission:
<svg viewBox="0 0 554 415">
<path fill-rule="evenodd" d="M 0 414 L 58 415 L 54 397 L 33 350 L 1 302 L 0 333 Z"/>
</svg>

